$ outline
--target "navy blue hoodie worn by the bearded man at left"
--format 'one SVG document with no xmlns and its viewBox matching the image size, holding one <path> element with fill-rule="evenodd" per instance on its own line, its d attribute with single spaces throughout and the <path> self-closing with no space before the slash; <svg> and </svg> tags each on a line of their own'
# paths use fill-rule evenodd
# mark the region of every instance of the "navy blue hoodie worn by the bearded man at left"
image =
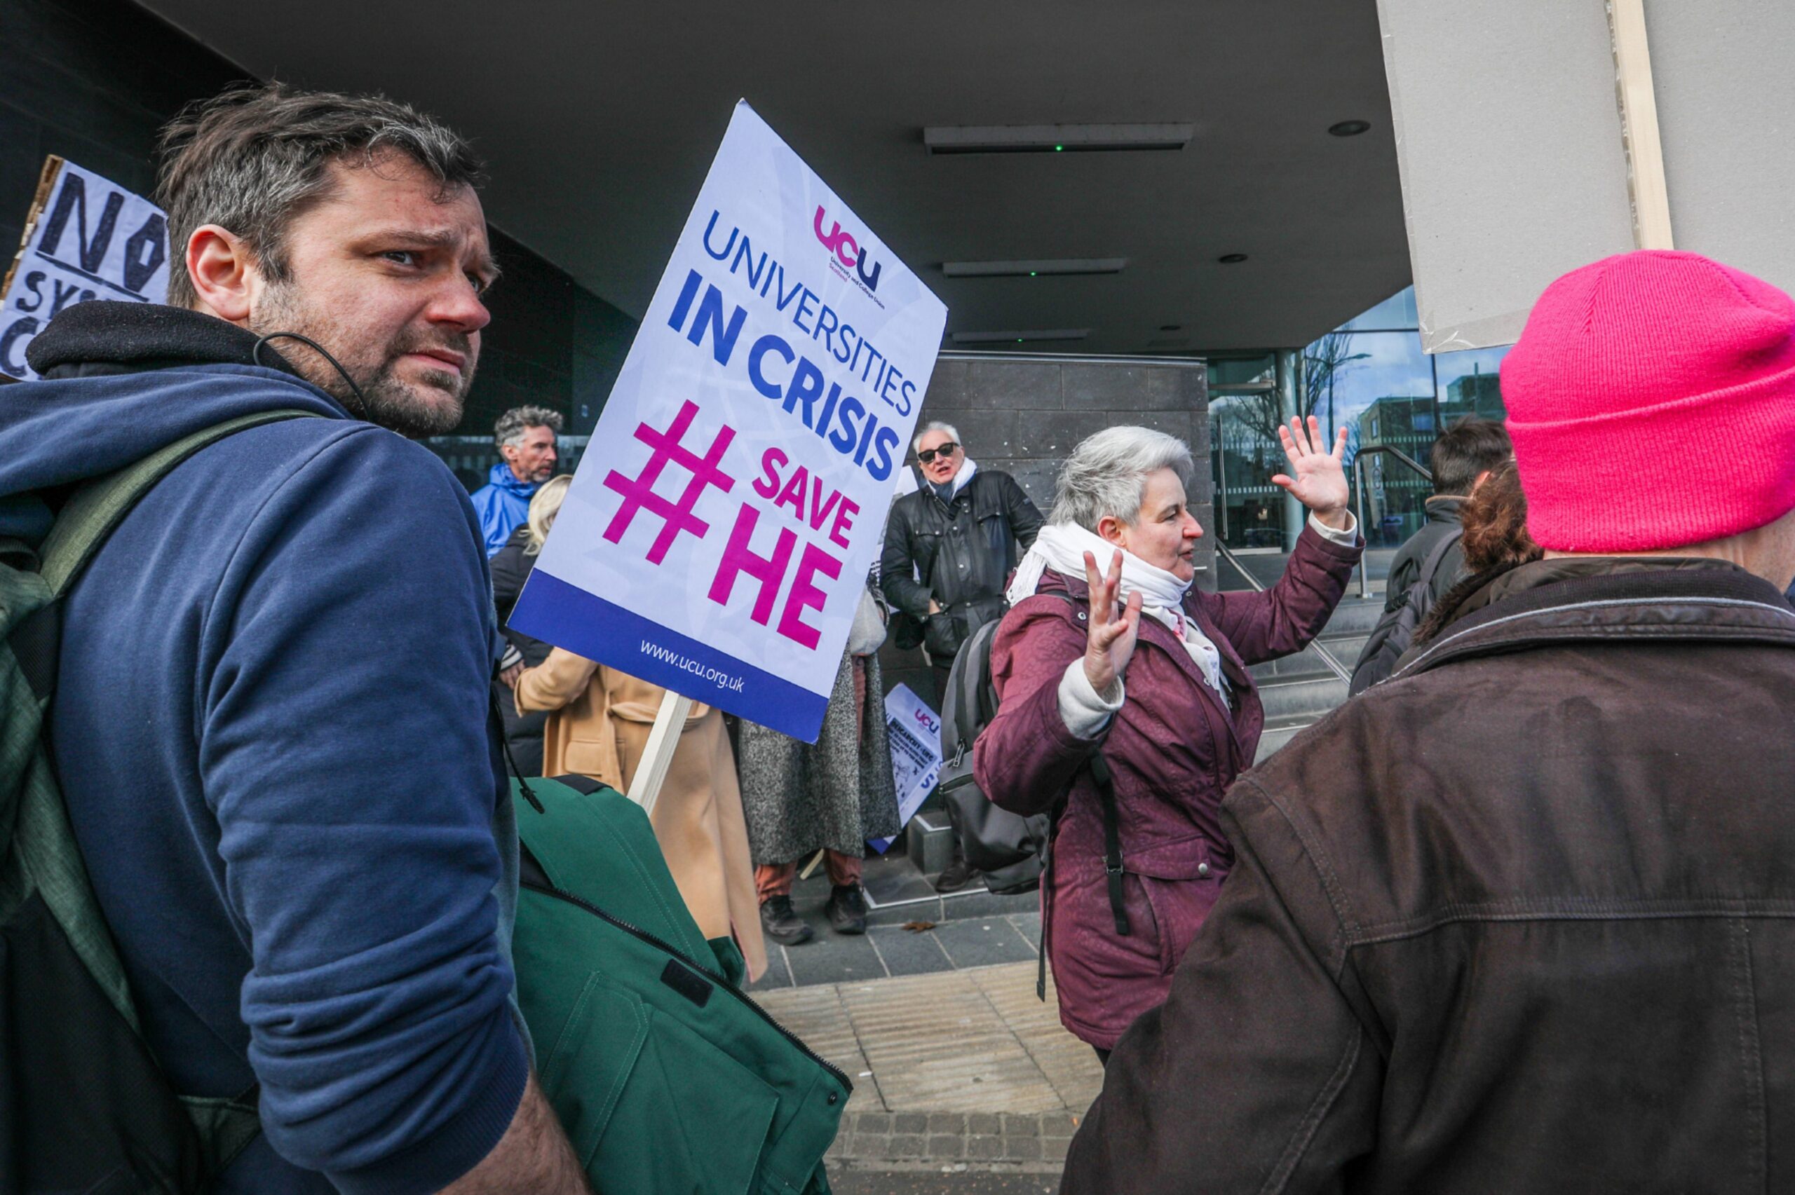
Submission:
<svg viewBox="0 0 1795 1195">
<path fill-rule="evenodd" d="M 83 303 L 32 364 L 79 371 L 171 339 L 158 323 L 248 359 L 208 316 Z M 219 1190 L 436 1191 L 492 1150 L 528 1073 L 474 511 L 425 449 L 298 377 L 171 355 L 0 389 L 0 535 L 31 529 L 20 495 L 201 427 L 325 418 L 201 450 L 77 581 L 52 711 L 74 829 L 176 1089 L 260 1084 L 264 1132 Z"/>
</svg>

